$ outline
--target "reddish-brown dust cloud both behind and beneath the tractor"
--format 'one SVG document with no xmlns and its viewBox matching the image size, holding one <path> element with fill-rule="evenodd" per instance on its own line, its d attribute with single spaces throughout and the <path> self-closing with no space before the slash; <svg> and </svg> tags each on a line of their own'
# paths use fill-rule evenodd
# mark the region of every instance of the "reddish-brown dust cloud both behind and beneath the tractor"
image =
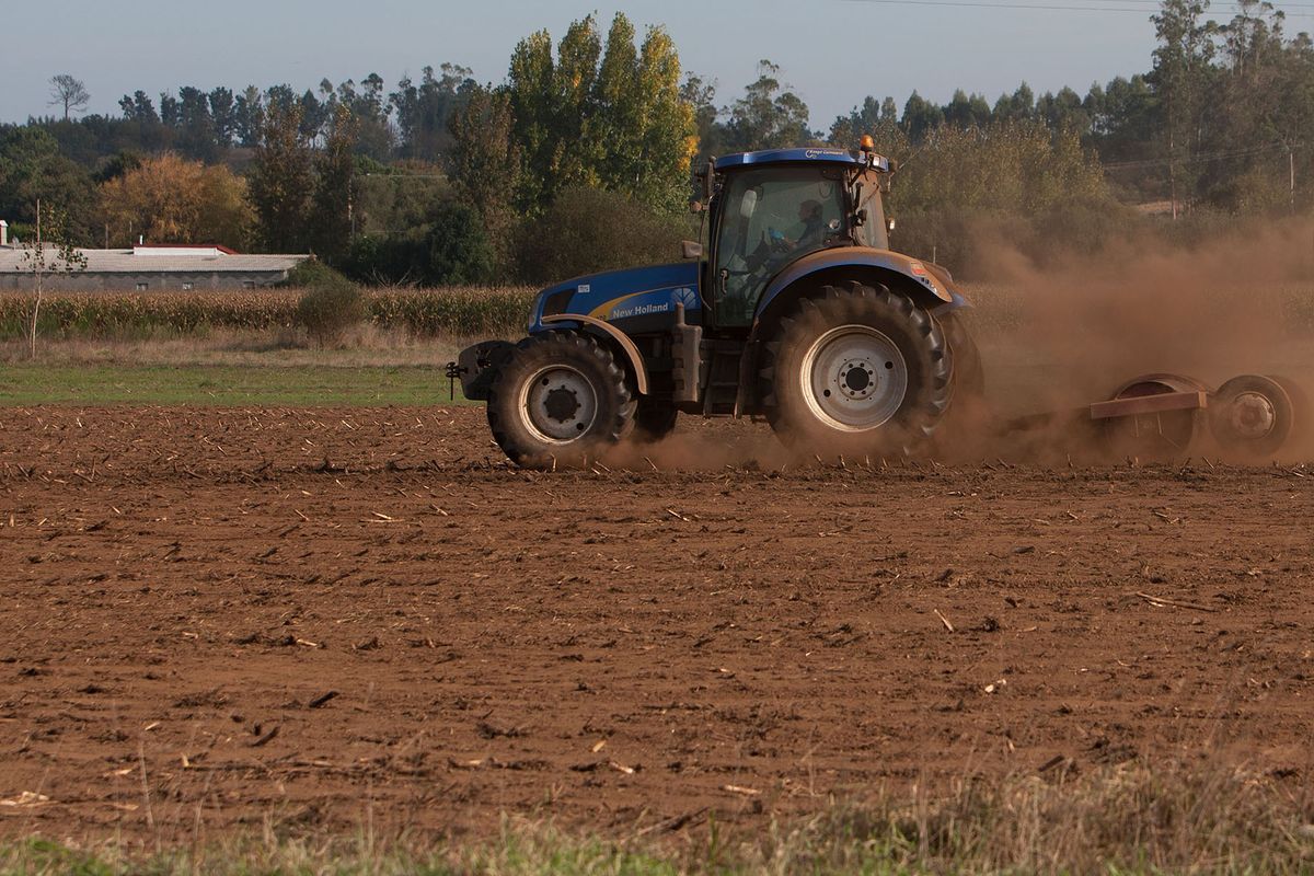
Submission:
<svg viewBox="0 0 1314 876">
<path fill-rule="evenodd" d="M 963 284 L 972 309 L 962 319 L 982 351 L 986 397 L 955 399 L 918 456 L 1041 465 L 1120 460 L 1125 448 L 1092 427 L 1085 406 L 1144 374 L 1180 374 L 1209 390 L 1239 374 L 1271 374 L 1314 389 L 1309 222 L 1250 225 L 1189 248 L 1154 234 L 1127 236 L 1043 267 L 988 229 L 976 232 L 974 251 L 989 280 Z M 1217 454 L 1204 423 L 1200 435 L 1190 452 Z M 1279 457 L 1311 456 L 1314 428 L 1297 419 Z M 817 457 L 836 461 L 825 448 L 786 448 L 765 426 L 708 429 L 682 415 L 671 436 L 622 444 L 607 464 L 779 470 Z"/>
</svg>

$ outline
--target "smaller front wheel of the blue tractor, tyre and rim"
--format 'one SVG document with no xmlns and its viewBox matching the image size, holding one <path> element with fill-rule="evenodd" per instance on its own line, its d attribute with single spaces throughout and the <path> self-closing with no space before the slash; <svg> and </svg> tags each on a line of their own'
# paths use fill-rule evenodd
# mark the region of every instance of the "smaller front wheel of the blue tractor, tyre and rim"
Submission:
<svg viewBox="0 0 1314 876">
<path fill-rule="evenodd" d="M 628 431 L 635 406 L 606 347 L 573 331 L 526 338 L 489 391 L 489 427 L 524 468 L 581 465 Z"/>
</svg>

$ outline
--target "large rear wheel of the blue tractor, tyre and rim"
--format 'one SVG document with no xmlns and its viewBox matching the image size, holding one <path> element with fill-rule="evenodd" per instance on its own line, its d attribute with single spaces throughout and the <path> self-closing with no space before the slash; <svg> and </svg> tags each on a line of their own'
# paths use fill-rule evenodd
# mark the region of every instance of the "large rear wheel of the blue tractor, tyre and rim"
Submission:
<svg viewBox="0 0 1314 876">
<path fill-rule="evenodd" d="M 781 320 L 762 378 L 771 428 L 815 453 L 909 452 L 953 395 L 953 353 L 934 317 L 886 288 L 825 286 Z"/>
</svg>

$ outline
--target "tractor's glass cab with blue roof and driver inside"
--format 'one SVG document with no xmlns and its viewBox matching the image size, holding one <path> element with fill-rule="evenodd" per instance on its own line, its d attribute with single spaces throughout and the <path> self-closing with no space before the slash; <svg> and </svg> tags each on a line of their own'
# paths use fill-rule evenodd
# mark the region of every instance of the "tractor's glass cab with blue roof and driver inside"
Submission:
<svg viewBox="0 0 1314 876">
<path fill-rule="evenodd" d="M 769 150 L 710 163 L 700 175 L 711 215 L 706 323 L 750 324 L 771 278 L 819 250 L 888 250 L 888 173 L 870 141 L 859 151 Z"/>
</svg>

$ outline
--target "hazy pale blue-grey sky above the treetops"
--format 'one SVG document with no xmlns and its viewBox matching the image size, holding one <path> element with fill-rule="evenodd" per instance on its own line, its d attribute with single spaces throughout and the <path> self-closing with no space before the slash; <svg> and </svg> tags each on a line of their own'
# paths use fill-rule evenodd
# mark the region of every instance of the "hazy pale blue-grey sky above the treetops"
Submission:
<svg viewBox="0 0 1314 876">
<path fill-rule="evenodd" d="M 643 29 L 661 24 L 686 71 L 719 81 L 721 104 L 756 77 L 769 58 L 807 101 L 812 123 L 828 127 L 866 95 L 892 95 L 900 106 L 916 88 L 946 101 L 954 88 L 993 100 L 1024 79 L 1037 93 L 1150 67 L 1151 0 L 976 0 L 1134 9 L 1080 12 L 907 5 L 870 0 L 184 0 L 54 7 L 7 4 L 0 13 L 0 120 L 54 112 L 50 76 L 68 72 L 92 95 L 91 110 L 117 113 L 138 88 L 204 89 L 286 81 L 298 91 L 325 76 L 357 81 L 380 74 L 392 87 L 426 64 L 461 63 L 482 81 L 501 81 L 512 46 L 547 28 L 597 11 L 603 26 L 623 9 Z M 1142 11 L 1143 8 L 1143 11 Z M 1293 20 L 1300 24 L 1303 20 Z M 1303 26 L 1303 25 L 1301 25 Z M 1294 30 L 1296 28 L 1293 28 Z"/>
</svg>

